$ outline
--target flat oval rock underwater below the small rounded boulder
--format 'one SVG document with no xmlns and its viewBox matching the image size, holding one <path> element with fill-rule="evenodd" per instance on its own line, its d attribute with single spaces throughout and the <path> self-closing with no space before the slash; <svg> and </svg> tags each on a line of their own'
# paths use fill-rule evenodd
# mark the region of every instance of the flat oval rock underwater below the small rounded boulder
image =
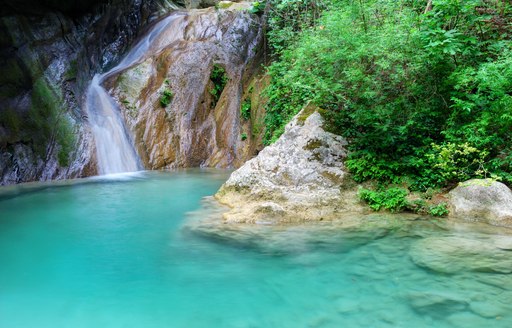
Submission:
<svg viewBox="0 0 512 328">
<path fill-rule="evenodd" d="M 409 254 L 417 265 L 442 273 L 512 273 L 510 252 L 492 238 L 429 237 L 415 242 Z"/>
</svg>

